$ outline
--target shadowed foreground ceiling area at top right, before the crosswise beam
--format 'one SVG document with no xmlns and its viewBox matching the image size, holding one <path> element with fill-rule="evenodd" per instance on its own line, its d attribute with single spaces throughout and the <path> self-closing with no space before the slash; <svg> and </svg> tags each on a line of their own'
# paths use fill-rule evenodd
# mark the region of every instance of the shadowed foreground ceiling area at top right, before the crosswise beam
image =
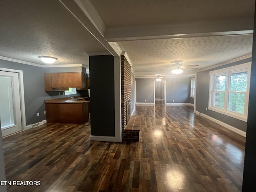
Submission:
<svg viewBox="0 0 256 192">
<path fill-rule="evenodd" d="M 254 16 L 255 0 L 91 0 L 107 27 Z"/>
</svg>

